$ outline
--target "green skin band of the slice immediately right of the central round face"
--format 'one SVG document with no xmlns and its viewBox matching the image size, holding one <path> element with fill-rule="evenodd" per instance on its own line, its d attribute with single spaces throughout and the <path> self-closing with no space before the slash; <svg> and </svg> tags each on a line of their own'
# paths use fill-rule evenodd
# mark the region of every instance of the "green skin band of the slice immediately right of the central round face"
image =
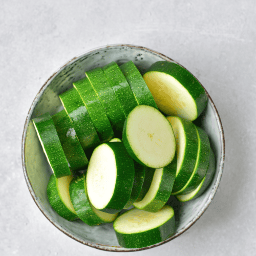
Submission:
<svg viewBox="0 0 256 256">
<path fill-rule="evenodd" d="M 183 126 L 186 137 L 186 149 L 184 154 L 184 162 L 182 163 L 180 171 L 174 181 L 172 195 L 181 190 L 186 185 L 191 174 L 193 173 L 198 153 L 198 136 L 195 124 L 182 117 L 176 118 L 181 121 Z"/>
</svg>

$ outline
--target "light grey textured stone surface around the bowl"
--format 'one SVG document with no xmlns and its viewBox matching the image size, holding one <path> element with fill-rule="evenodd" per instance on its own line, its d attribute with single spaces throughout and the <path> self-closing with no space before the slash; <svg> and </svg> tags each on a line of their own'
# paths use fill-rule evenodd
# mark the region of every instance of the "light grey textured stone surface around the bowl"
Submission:
<svg viewBox="0 0 256 256">
<path fill-rule="evenodd" d="M 255 255 L 255 13 L 253 0 L 2 0 L 0 254 L 111 254 L 72 240 L 41 214 L 24 179 L 21 141 L 30 105 L 56 69 L 124 43 L 159 51 L 196 75 L 226 140 L 221 184 L 205 214 L 182 236 L 136 255 Z"/>
</svg>

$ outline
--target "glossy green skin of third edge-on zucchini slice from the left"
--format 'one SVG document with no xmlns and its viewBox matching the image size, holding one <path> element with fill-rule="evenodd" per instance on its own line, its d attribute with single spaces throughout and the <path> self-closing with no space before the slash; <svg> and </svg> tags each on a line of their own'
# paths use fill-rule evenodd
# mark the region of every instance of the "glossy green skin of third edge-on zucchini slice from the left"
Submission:
<svg viewBox="0 0 256 256">
<path fill-rule="evenodd" d="M 86 106 L 75 88 L 60 94 L 59 98 L 70 117 L 83 151 L 90 157 L 100 140 Z"/>
</svg>

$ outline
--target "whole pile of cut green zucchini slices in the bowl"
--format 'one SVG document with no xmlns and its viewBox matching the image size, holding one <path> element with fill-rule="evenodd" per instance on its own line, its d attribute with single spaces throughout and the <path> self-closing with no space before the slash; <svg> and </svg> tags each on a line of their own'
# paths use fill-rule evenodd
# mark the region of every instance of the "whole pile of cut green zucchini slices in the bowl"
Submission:
<svg viewBox="0 0 256 256">
<path fill-rule="evenodd" d="M 215 173 L 209 138 L 193 123 L 207 102 L 198 80 L 174 62 L 158 61 L 143 76 L 132 61 L 111 62 L 59 98 L 64 110 L 33 119 L 57 214 L 90 226 L 114 222 L 125 248 L 172 236 L 169 197 L 199 197 Z"/>
</svg>

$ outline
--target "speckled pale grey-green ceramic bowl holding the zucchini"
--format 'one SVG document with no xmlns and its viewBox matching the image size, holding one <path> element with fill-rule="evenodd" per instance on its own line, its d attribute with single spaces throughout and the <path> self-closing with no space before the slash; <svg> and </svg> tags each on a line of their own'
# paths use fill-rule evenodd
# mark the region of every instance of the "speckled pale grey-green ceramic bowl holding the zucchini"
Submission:
<svg viewBox="0 0 256 256">
<path fill-rule="evenodd" d="M 53 115 L 61 110 L 62 106 L 58 95 L 72 88 L 72 82 L 83 78 L 85 71 L 103 67 L 111 61 L 116 61 L 120 65 L 129 60 L 134 61 L 142 74 L 156 61 L 174 61 L 156 51 L 132 45 L 104 46 L 74 57 L 53 73 L 37 93 L 25 122 L 22 140 L 22 162 L 25 179 L 31 196 L 41 212 L 53 225 L 69 237 L 82 244 L 106 251 L 121 252 L 149 249 L 180 236 L 202 216 L 214 198 L 224 164 L 225 144 L 220 116 L 214 102 L 206 92 L 209 99 L 208 104 L 205 111 L 198 118 L 197 124 L 209 135 L 211 147 L 216 157 L 216 174 L 205 193 L 199 198 L 185 203 L 179 203 L 176 199 L 170 200 L 169 203 L 175 210 L 177 227 L 172 237 L 152 246 L 125 249 L 118 245 L 113 224 L 91 227 L 79 220 L 69 222 L 56 214 L 49 204 L 46 193 L 47 183 L 52 171 L 37 138 L 32 119 L 46 112 Z"/>
</svg>

